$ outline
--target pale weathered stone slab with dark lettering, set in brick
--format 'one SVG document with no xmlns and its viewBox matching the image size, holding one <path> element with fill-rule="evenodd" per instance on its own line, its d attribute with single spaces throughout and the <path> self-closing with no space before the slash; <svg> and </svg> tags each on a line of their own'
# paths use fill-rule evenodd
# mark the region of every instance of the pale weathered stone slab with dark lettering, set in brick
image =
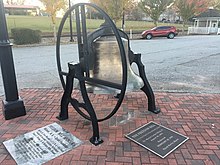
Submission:
<svg viewBox="0 0 220 165">
<path fill-rule="evenodd" d="M 57 123 L 53 123 L 3 144 L 18 165 L 40 165 L 76 148 L 82 142 Z"/>
</svg>

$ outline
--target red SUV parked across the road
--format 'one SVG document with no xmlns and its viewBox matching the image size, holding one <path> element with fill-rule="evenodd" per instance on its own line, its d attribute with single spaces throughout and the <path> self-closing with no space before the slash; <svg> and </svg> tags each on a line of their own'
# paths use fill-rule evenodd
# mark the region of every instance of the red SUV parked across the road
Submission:
<svg viewBox="0 0 220 165">
<path fill-rule="evenodd" d="M 177 35 L 176 27 L 174 26 L 158 26 L 151 30 L 142 32 L 142 37 L 150 40 L 152 37 L 167 37 L 173 39 Z"/>
</svg>

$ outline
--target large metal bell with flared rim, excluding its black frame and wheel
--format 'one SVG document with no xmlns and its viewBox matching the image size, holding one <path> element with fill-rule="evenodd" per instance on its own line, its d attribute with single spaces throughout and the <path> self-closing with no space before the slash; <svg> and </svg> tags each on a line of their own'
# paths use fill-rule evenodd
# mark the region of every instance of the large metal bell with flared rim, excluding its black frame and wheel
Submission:
<svg viewBox="0 0 220 165">
<path fill-rule="evenodd" d="M 132 70 L 129 58 L 128 58 L 128 40 L 122 38 L 123 46 L 126 52 L 127 62 L 127 86 L 126 92 L 136 91 L 144 86 L 144 82 Z M 93 66 L 90 70 L 90 77 L 97 78 L 113 83 L 122 83 L 122 62 L 120 56 L 120 50 L 117 40 L 114 36 L 104 36 L 96 39 L 92 43 L 93 54 Z M 111 89 L 106 86 L 87 85 L 89 92 L 93 93 L 117 93 L 116 89 Z"/>
</svg>

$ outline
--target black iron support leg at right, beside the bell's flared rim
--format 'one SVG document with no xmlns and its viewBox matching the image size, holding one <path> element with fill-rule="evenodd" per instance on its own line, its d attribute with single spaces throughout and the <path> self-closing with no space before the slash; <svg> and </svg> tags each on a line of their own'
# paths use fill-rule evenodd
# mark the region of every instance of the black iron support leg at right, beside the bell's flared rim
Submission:
<svg viewBox="0 0 220 165">
<path fill-rule="evenodd" d="M 153 90 L 152 90 L 148 80 L 147 80 L 144 65 L 141 62 L 141 54 L 135 55 L 134 62 L 137 64 L 138 70 L 139 70 L 139 75 L 142 78 L 142 80 L 144 81 L 144 86 L 141 88 L 141 90 L 147 95 L 148 111 L 151 111 L 155 114 L 158 114 L 158 113 L 160 113 L 160 109 L 156 108 L 154 93 L 153 93 Z"/>
</svg>

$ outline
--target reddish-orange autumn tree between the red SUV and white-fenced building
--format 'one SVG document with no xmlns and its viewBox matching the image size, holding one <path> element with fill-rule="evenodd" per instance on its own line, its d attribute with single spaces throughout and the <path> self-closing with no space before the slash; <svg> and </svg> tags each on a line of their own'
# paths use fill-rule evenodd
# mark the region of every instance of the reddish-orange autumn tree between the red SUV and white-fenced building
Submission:
<svg viewBox="0 0 220 165">
<path fill-rule="evenodd" d="M 208 0 L 176 0 L 175 9 L 183 20 L 183 31 L 188 20 L 205 11 L 209 6 Z"/>
</svg>

